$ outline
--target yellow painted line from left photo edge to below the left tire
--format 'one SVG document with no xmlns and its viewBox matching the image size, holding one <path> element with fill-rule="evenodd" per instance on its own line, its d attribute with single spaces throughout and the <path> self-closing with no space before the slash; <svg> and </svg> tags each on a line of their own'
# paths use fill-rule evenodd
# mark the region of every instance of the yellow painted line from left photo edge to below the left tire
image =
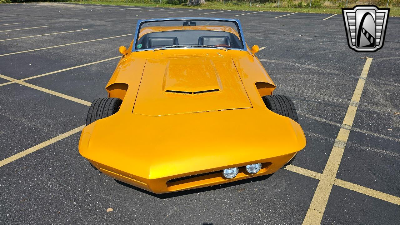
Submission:
<svg viewBox="0 0 400 225">
<path fill-rule="evenodd" d="M 85 125 L 82 125 L 82 126 L 77 127 L 77 128 L 75 128 L 75 129 L 73 129 L 71 131 L 68 131 L 68 132 L 63 133 L 61 135 L 58 135 L 58 136 L 56 136 L 56 137 L 54 137 L 54 138 L 52 138 L 50 140 L 47 140 L 47 141 L 42 142 L 42 143 L 40 143 L 38 145 L 35 145 L 34 147 L 31 147 L 29 149 L 26 149 L 26 150 L 20 152 L 20 153 L 17 153 L 15 155 L 12 155 L 12 156 L 6 158 L 6 159 L 3 159 L 2 161 L 0 161 L 0 167 L 2 167 L 4 165 L 7 165 L 8 163 L 11 163 L 13 161 L 16 161 L 17 159 L 20 159 L 20 158 L 22 158 L 22 157 L 24 157 L 24 156 L 26 156 L 26 155 L 28 155 L 30 153 L 38 151 L 39 149 L 42 149 L 42 148 L 44 148 L 44 147 L 46 147 L 48 145 L 51 145 L 51 144 L 53 144 L 53 143 L 55 143 L 57 141 L 60 141 L 60 140 L 62 140 L 64 138 L 66 138 L 66 137 L 69 137 L 69 136 L 71 136 L 73 134 L 76 134 L 76 133 L 82 131 L 82 129 L 84 127 L 85 127 Z"/>
</svg>

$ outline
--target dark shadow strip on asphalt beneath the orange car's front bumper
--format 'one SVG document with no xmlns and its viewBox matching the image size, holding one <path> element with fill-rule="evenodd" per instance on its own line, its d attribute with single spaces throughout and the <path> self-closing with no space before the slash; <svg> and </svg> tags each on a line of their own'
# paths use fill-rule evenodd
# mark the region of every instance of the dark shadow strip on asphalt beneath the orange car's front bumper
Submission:
<svg viewBox="0 0 400 225">
<path fill-rule="evenodd" d="M 124 183 L 122 181 L 118 181 L 118 180 L 115 180 L 115 179 L 114 179 L 114 181 L 116 181 L 120 185 L 124 185 L 125 187 L 129 187 L 129 188 L 134 189 L 136 191 L 140 191 L 142 193 L 146 193 L 146 194 L 151 195 L 153 197 L 156 197 L 156 198 L 159 198 L 159 199 L 168 199 L 168 198 L 179 197 L 179 196 L 183 196 L 183 195 L 201 193 L 201 192 L 205 192 L 205 191 L 218 190 L 218 189 L 222 189 L 222 188 L 226 188 L 226 187 L 232 187 L 232 186 L 242 185 L 242 184 L 246 184 L 246 183 L 252 183 L 252 182 L 256 182 L 256 181 L 263 181 L 263 180 L 268 179 L 271 176 L 272 176 L 272 174 L 268 174 L 268 175 L 264 175 L 264 176 L 260 176 L 260 177 L 252 177 L 252 178 L 243 179 L 243 180 L 240 180 L 240 181 L 233 181 L 233 182 L 230 182 L 230 183 L 224 183 L 224 184 L 220 184 L 220 185 L 213 185 L 213 186 L 210 186 L 210 187 L 201 187 L 201 188 L 196 188 L 196 189 L 190 189 L 190 190 L 185 190 L 185 191 L 177 191 L 177 192 L 170 192 L 170 193 L 164 193 L 164 194 L 155 194 L 155 193 L 152 193 L 150 191 L 146 191 L 146 190 L 143 190 L 141 188 L 135 187 L 133 185 Z"/>
</svg>

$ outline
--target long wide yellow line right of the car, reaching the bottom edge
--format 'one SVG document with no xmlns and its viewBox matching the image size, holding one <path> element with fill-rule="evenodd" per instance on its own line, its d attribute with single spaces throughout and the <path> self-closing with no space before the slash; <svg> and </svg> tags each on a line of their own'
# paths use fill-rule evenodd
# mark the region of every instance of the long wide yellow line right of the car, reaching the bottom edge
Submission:
<svg viewBox="0 0 400 225">
<path fill-rule="evenodd" d="M 372 58 L 367 58 L 364 68 L 362 69 L 360 78 L 358 79 L 356 89 L 352 96 L 352 102 L 359 102 L 364 89 L 365 78 L 367 77 L 368 70 L 370 68 Z M 346 115 L 344 116 L 343 125 L 348 125 L 352 127 L 354 117 L 356 116 L 358 106 L 349 104 Z M 340 128 L 336 141 L 332 148 L 332 151 L 328 158 L 328 163 L 326 163 L 324 172 L 322 173 L 322 179 L 318 183 L 315 190 L 314 197 L 311 200 L 310 207 L 304 218 L 303 225 L 317 225 L 321 224 L 322 217 L 328 203 L 329 195 L 332 191 L 332 186 L 336 179 L 336 174 L 338 173 L 340 161 L 346 147 L 347 139 L 349 137 L 350 130 Z"/>
</svg>

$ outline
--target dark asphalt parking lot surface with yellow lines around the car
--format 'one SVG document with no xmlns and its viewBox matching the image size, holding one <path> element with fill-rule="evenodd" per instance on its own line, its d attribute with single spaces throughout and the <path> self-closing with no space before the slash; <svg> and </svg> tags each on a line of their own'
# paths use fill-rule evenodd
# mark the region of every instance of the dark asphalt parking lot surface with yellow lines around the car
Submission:
<svg viewBox="0 0 400 225">
<path fill-rule="evenodd" d="M 1 4 L 0 224 L 398 224 L 400 18 L 381 50 L 360 53 L 342 15 L 288 14 Z M 163 195 L 92 169 L 80 131 L 107 96 L 118 47 L 138 19 L 196 16 L 240 19 L 248 45 L 264 47 L 257 56 L 274 94 L 293 100 L 306 147 L 273 175 Z"/>
</svg>

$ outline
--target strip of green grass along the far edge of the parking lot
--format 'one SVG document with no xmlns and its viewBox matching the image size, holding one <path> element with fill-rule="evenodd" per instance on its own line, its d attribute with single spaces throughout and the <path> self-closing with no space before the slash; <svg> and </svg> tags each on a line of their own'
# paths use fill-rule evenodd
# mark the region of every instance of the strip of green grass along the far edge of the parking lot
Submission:
<svg viewBox="0 0 400 225">
<path fill-rule="evenodd" d="M 284 7 L 276 7 L 275 3 L 265 3 L 265 4 L 252 4 L 252 7 L 246 3 L 238 3 L 238 2 L 227 2 L 224 4 L 223 2 L 207 2 L 201 6 L 187 6 L 186 1 L 182 4 L 177 3 L 175 4 L 156 4 L 154 1 L 141 3 L 141 2 L 129 2 L 128 3 L 124 0 L 113 0 L 113 1 L 70 1 L 71 3 L 78 3 L 78 4 L 99 4 L 99 5 L 120 5 L 120 6 L 158 6 L 158 7 L 170 7 L 170 8 L 188 8 L 188 9 L 216 9 L 216 10 L 247 10 L 247 11 L 268 11 L 268 12 L 305 12 L 305 13 L 326 13 L 326 14 L 341 14 L 341 8 L 335 8 L 333 5 L 322 6 L 326 8 L 288 8 L 285 1 L 281 1 L 282 6 Z M 258 6 L 256 6 L 258 5 Z M 307 4 L 308 5 L 308 4 Z M 353 5 L 348 5 L 348 8 L 353 7 Z M 381 8 L 385 8 L 385 6 L 380 6 Z M 400 16 L 400 8 L 392 7 L 390 8 L 390 16 Z"/>
</svg>

